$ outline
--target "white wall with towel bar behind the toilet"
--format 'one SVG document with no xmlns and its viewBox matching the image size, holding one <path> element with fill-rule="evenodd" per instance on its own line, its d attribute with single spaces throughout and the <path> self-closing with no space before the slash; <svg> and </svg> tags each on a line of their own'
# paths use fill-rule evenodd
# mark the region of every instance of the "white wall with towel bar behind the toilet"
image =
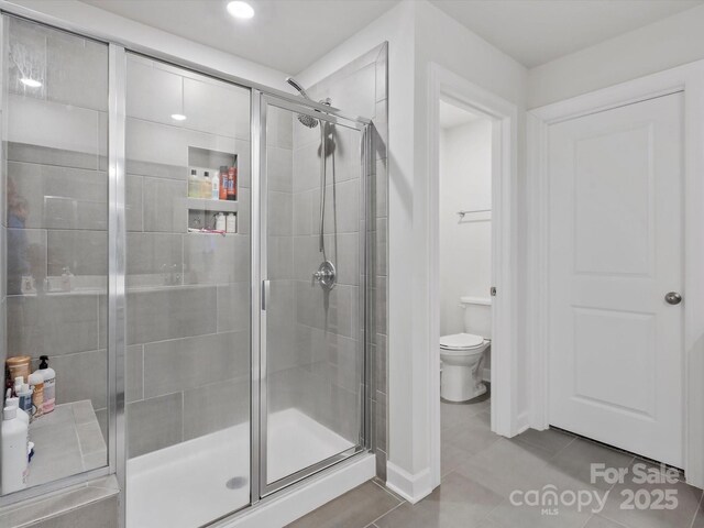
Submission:
<svg viewBox="0 0 704 528">
<path fill-rule="evenodd" d="M 492 286 L 492 122 L 442 129 L 440 136 L 440 333 L 464 331 L 460 297 Z"/>
</svg>

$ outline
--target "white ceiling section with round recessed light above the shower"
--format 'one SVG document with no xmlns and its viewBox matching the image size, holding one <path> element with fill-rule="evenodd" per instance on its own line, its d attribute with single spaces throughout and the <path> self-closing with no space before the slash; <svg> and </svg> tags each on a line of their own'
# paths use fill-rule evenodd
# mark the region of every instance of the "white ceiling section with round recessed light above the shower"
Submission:
<svg viewBox="0 0 704 528">
<path fill-rule="evenodd" d="M 310 66 L 397 0 L 249 0 L 251 20 L 228 0 L 81 0 L 128 19 L 288 74 Z"/>
</svg>

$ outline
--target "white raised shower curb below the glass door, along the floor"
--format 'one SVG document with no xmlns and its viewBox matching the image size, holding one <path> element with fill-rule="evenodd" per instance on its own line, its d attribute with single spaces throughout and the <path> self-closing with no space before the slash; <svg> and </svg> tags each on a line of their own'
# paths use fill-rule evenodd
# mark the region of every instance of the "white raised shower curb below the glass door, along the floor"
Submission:
<svg viewBox="0 0 704 528">
<path fill-rule="evenodd" d="M 374 477 L 373 453 L 360 457 L 334 471 L 312 477 L 301 487 L 292 490 L 271 502 L 260 503 L 239 514 L 219 528 L 280 528 L 319 508 L 343 493 Z"/>
</svg>

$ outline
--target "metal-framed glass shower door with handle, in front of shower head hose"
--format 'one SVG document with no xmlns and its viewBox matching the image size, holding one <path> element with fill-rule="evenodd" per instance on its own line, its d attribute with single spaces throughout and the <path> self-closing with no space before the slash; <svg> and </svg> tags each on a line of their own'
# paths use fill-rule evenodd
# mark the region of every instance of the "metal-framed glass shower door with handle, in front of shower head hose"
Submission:
<svg viewBox="0 0 704 528">
<path fill-rule="evenodd" d="M 263 97 L 262 495 L 364 444 L 364 125 Z"/>
</svg>

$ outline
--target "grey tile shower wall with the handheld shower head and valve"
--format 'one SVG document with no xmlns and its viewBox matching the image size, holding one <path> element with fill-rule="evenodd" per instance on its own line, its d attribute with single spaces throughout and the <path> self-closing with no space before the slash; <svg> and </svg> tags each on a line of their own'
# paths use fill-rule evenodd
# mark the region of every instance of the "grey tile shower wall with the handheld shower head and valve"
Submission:
<svg viewBox="0 0 704 528">
<path fill-rule="evenodd" d="M 382 480 L 386 480 L 386 65 L 387 44 L 383 44 L 307 90 L 316 100 L 329 97 L 332 105 L 343 109 L 346 114 L 373 118 L 374 154 L 367 182 L 371 217 L 366 226 L 370 244 L 367 346 L 372 352 L 372 443 L 376 451 L 377 476 Z M 296 123 L 294 125 L 296 356 L 299 361 L 305 358 L 306 364 L 301 370 L 306 372 L 305 378 L 309 382 L 305 385 L 307 392 L 299 395 L 299 405 L 316 419 L 349 439 L 356 439 L 355 435 L 359 432 L 358 424 L 351 418 L 355 416 L 354 409 L 360 405 L 360 387 L 354 384 L 360 378 L 355 373 L 362 365 L 359 364 L 355 339 L 359 336 L 356 330 L 363 321 L 356 317 L 356 299 L 360 278 L 365 273 L 364 270 L 359 270 L 358 263 L 362 201 L 359 196 L 359 179 L 355 179 L 360 174 L 356 138 L 356 134 L 345 134 L 343 130 L 338 130 L 340 148 L 336 157 L 336 179 L 334 184 L 331 179 L 328 182 L 326 245 L 331 248 L 329 253 L 332 253 L 332 260 L 339 265 L 339 284 L 328 299 L 326 319 L 323 294 L 319 287 L 310 287 L 310 274 L 321 261 L 317 237 L 320 205 L 320 158 L 317 148 L 320 132 L 319 129 L 308 130 Z M 331 175 L 330 162 L 328 170 Z M 331 206 L 333 202 L 334 208 Z M 321 404 L 326 398 L 328 399 Z"/>
</svg>

